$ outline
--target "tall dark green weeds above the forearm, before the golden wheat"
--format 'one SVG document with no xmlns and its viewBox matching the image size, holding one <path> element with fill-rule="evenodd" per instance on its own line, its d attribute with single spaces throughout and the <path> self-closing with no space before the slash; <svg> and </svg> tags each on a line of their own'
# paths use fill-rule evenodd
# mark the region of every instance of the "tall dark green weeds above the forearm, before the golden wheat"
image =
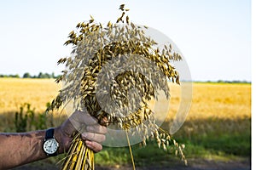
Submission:
<svg viewBox="0 0 256 170">
<path fill-rule="evenodd" d="M 17 133 L 27 132 L 38 129 L 45 129 L 48 126 L 53 127 L 53 117 L 45 113 L 35 113 L 35 109 L 30 104 L 20 106 L 20 112 L 15 112 L 15 129 Z"/>
</svg>

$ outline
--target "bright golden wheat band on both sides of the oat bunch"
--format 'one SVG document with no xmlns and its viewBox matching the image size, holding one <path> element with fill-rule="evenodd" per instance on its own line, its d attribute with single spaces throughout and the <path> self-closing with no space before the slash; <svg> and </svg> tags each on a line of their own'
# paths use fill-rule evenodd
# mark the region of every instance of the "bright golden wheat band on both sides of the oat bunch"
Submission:
<svg viewBox="0 0 256 170">
<path fill-rule="evenodd" d="M 180 88 L 171 86 L 172 115 L 180 102 Z M 18 111 L 29 103 L 42 112 L 46 103 L 58 94 L 61 84 L 54 79 L 0 78 L 0 114 Z M 193 83 L 193 98 L 189 119 L 251 117 L 251 84 Z"/>
</svg>

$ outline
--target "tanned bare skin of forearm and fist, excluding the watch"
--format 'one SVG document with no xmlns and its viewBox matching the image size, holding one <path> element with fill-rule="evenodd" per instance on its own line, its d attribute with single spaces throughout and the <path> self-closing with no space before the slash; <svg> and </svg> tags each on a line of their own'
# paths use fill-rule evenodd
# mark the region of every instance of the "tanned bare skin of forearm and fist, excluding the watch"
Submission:
<svg viewBox="0 0 256 170">
<path fill-rule="evenodd" d="M 82 128 L 83 127 L 83 128 Z M 55 127 L 55 139 L 60 144 L 58 154 L 68 150 L 72 141 L 72 134 L 77 129 L 85 144 L 95 152 L 102 150 L 107 127 L 104 127 L 88 113 L 76 111 L 60 127 Z M 46 130 L 28 133 L 0 133 L 0 169 L 18 167 L 32 161 L 45 159 L 43 150 Z"/>
</svg>

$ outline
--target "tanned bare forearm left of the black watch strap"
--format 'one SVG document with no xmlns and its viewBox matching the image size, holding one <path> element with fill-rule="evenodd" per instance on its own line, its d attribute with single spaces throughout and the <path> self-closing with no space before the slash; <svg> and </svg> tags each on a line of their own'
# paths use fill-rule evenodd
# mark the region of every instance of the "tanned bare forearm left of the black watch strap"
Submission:
<svg viewBox="0 0 256 170">
<path fill-rule="evenodd" d="M 46 158 L 45 130 L 31 133 L 0 133 L 0 169 L 17 167 Z"/>
</svg>

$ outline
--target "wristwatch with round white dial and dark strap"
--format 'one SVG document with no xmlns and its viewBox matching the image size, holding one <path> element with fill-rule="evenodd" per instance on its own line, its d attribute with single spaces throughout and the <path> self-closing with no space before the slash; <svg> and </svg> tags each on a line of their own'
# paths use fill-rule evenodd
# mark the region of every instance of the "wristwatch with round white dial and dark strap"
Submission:
<svg viewBox="0 0 256 170">
<path fill-rule="evenodd" d="M 47 156 L 56 156 L 59 149 L 59 143 L 54 137 L 55 129 L 46 130 L 43 149 Z"/>
</svg>

